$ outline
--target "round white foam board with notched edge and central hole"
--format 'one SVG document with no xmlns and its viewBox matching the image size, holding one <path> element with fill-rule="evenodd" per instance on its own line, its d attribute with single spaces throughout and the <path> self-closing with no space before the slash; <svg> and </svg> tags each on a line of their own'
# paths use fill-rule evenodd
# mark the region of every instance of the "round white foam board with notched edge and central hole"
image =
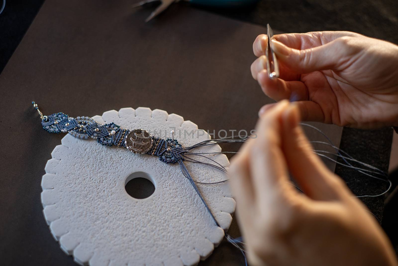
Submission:
<svg viewBox="0 0 398 266">
<path fill-rule="evenodd" d="M 175 138 L 183 146 L 210 138 L 207 133 L 199 136 L 193 122 L 164 110 L 122 108 L 93 118 L 130 130 L 162 130 L 162 137 L 165 130 L 176 128 Z M 184 130 L 195 133 L 184 136 Z M 96 140 L 80 140 L 70 134 L 61 143 L 45 167 L 41 201 L 51 233 L 78 264 L 195 265 L 213 252 L 230 226 L 235 201 L 228 182 L 197 184 L 220 228 L 178 164 L 166 164 L 156 156 L 133 154 L 125 148 L 102 146 Z M 212 145 L 198 151 L 220 152 L 221 148 Z M 228 167 L 224 154 L 211 156 Z M 226 179 L 225 173 L 213 167 L 191 162 L 185 165 L 196 181 Z M 155 185 L 154 193 L 146 199 L 135 199 L 125 190 L 127 178 L 137 172 L 144 172 L 142 177 Z"/>
</svg>

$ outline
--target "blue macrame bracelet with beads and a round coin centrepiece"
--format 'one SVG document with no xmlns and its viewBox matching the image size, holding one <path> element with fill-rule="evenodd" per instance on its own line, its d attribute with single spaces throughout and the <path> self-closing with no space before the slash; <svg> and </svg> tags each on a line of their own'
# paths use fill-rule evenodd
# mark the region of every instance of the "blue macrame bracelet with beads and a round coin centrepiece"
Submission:
<svg viewBox="0 0 398 266">
<path fill-rule="evenodd" d="M 34 101 L 32 104 L 39 111 Z M 181 154 L 186 151 L 177 140 L 155 138 L 144 129 L 129 130 L 121 128 L 113 122 L 101 124 L 89 116 L 73 118 L 63 112 L 43 116 L 39 111 L 39 114 L 41 114 L 41 125 L 50 133 L 67 132 L 83 140 L 93 138 L 102 145 L 127 148 L 135 154 L 146 153 L 158 156 L 159 160 L 167 164 L 175 164 L 178 160 L 184 161 Z"/>
</svg>

